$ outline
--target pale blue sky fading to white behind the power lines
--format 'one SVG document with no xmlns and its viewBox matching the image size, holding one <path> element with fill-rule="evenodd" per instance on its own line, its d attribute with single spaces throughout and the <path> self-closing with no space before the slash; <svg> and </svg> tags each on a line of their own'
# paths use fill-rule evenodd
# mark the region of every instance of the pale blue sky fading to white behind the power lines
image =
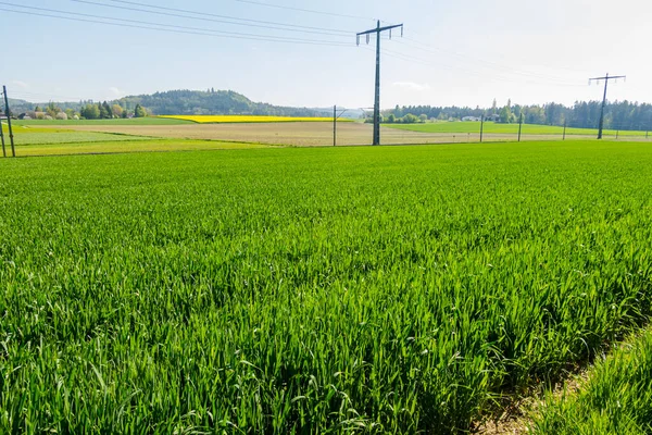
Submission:
<svg viewBox="0 0 652 435">
<path fill-rule="evenodd" d="M 602 88 L 589 87 L 588 78 L 607 72 L 628 76 L 626 83 L 610 88 L 610 99 L 652 102 L 650 1 L 252 1 L 276 8 L 239 0 L 0 1 L 0 30 L 11 40 L 2 49 L 0 84 L 8 85 L 11 97 L 32 101 L 103 100 L 214 87 L 274 104 L 368 108 L 374 98 L 374 40 L 367 47 L 363 39 L 356 47 L 354 34 L 375 26 L 374 20 L 379 18 L 405 25 L 404 38 L 397 33 L 391 41 L 383 40 L 387 50 L 381 73 L 384 108 L 397 103 L 489 107 L 493 98 L 499 104 L 509 98 L 515 103 L 554 100 L 569 104 L 600 99 Z M 170 10 L 149 9 L 160 12 L 155 14 L 124 9 L 147 9 L 138 4 L 202 14 L 190 20 L 161 14 L 180 14 Z M 167 33 L 35 15 L 106 21 L 43 9 L 131 20 L 136 26 L 151 26 L 135 23 L 148 22 L 184 27 L 177 27 L 183 32 L 221 30 L 328 45 Z M 285 28 L 279 30 L 217 23 L 234 20 L 215 15 L 289 26 L 240 21 Z"/>
</svg>

